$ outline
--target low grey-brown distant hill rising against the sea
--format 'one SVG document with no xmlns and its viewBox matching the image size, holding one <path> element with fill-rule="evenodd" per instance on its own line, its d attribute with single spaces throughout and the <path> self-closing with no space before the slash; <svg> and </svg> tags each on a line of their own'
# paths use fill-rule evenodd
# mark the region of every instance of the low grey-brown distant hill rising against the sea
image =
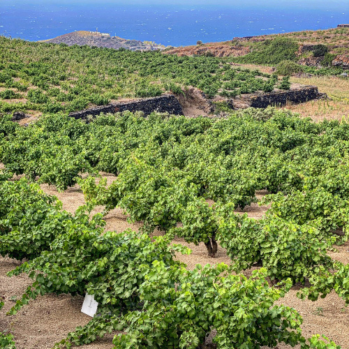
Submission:
<svg viewBox="0 0 349 349">
<path fill-rule="evenodd" d="M 48 40 L 41 40 L 44 43 L 65 43 L 66 45 L 88 45 L 96 47 L 125 48 L 132 51 L 153 51 L 163 50 L 165 46 L 158 45 L 151 41 L 127 40 L 119 36 L 110 36 L 110 34 L 100 33 L 99 31 L 73 31 L 73 33 L 64 34 Z"/>
</svg>

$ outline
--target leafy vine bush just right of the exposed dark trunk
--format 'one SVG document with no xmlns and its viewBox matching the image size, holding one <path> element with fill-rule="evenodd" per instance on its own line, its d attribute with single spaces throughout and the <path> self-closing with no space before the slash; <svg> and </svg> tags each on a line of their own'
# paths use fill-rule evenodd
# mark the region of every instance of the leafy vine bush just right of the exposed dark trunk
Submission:
<svg viewBox="0 0 349 349">
<path fill-rule="evenodd" d="M 262 265 L 272 280 L 304 282 L 333 265 L 314 228 L 273 216 L 256 221 L 246 215 L 223 214 L 217 238 L 237 272 Z"/>
</svg>

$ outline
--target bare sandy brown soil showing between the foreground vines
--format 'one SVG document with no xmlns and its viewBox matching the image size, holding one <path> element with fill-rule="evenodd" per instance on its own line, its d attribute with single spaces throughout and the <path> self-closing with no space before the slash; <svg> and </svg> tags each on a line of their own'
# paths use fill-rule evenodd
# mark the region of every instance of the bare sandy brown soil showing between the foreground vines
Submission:
<svg viewBox="0 0 349 349">
<path fill-rule="evenodd" d="M 107 183 L 110 184 L 115 177 L 110 174 L 104 174 L 107 177 Z M 68 188 L 64 193 L 58 193 L 53 186 L 41 185 L 45 193 L 56 195 L 63 203 L 63 208 L 74 212 L 77 207 L 84 204 L 84 195 L 78 186 Z M 257 193 L 258 198 L 265 195 L 265 191 Z M 253 204 L 246 207 L 244 212 L 253 218 L 261 218 L 267 207 L 259 207 Z M 98 211 L 98 209 L 96 209 Z M 243 213 L 240 210 L 241 213 Z M 138 230 L 140 224 L 127 222 L 127 218 L 120 209 L 114 209 L 105 217 L 107 221 L 107 230 L 116 230 L 121 232 L 127 228 Z M 161 234 L 161 232 L 158 232 Z M 225 254 L 225 250 L 218 247 L 216 258 L 207 257 L 205 244 L 186 244 L 183 239 L 175 239 L 174 242 L 184 244 L 191 248 L 191 255 L 179 255 L 178 258 L 188 265 L 189 269 L 200 263 L 225 262 L 230 263 L 230 259 Z M 329 253 L 332 258 L 349 262 L 349 243 L 338 248 L 337 252 Z M 14 276 L 9 278 L 6 272 L 10 271 L 19 264 L 18 261 L 10 258 L 0 258 L 0 296 L 5 299 L 4 311 L 0 312 L 0 331 L 10 331 L 15 336 L 17 349 L 50 349 L 61 339 L 64 339 L 68 332 L 73 331 L 75 327 L 85 325 L 90 318 L 80 312 L 83 298 L 80 296 L 72 297 L 70 295 L 45 295 L 31 301 L 29 306 L 17 313 L 17 315 L 6 316 L 5 312 L 14 304 L 14 299 L 24 292 L 30 283 L 30 279 L 25 276 Z M 251 274 L 251 271 L 246 271 Z M 294 307 L 304 318 L 302 325 L 305 336 L 312 334 L 325 334 L 336 341 L 343 349 L 349 349 L 349 308 L 345 308 L 343 300 L 332 293 L 325 299 L 319 299 L 318 302 L 301 301 L 297 298 L 297 287 L 293 288 L 284 299 L 282 304 Z M 95 341 L 87 346 L 79 348 L 86 349 L 111 349 L 113 335 Z M 285 349 L 288 346 L 279 345 L 277 348 Z"/>
</svg>

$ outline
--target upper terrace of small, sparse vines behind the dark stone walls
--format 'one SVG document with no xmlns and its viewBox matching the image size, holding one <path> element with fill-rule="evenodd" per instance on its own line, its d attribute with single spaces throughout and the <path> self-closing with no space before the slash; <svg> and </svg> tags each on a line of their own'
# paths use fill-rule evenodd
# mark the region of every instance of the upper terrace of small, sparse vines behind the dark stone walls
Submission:
<svg viewBox="0 0 349 349">
<path fill-rule="evenodd" d="M 290 89 L 286 79 L 232 68 L 217 57 L 177 57 L 87 45 L 29 43 L 0 36 L 0 112 L 73 112 L 119 98 L 184 94 L 208 98 Z"/>
</svg>

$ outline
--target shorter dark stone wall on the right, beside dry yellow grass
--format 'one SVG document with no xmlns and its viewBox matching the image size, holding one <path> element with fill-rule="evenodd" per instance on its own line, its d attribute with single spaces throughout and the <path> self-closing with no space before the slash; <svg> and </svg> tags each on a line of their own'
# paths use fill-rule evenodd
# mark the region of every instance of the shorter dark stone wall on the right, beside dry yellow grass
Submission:
<svg viewBox="0 0 349 349">
<path fill-rule="evenodd" d="M 286 103 L 304 103 L 323 96 L 325 94 L 320 94 L 318 87 L 304 86 L 288 91 L 273 91 L 268 94 L 242 96 L 241 100 L 248 107 L 265 108 L 268 105 L 284 106 Z M 233 104 L 235 103 L 233 102 Z"/>
</svg>

